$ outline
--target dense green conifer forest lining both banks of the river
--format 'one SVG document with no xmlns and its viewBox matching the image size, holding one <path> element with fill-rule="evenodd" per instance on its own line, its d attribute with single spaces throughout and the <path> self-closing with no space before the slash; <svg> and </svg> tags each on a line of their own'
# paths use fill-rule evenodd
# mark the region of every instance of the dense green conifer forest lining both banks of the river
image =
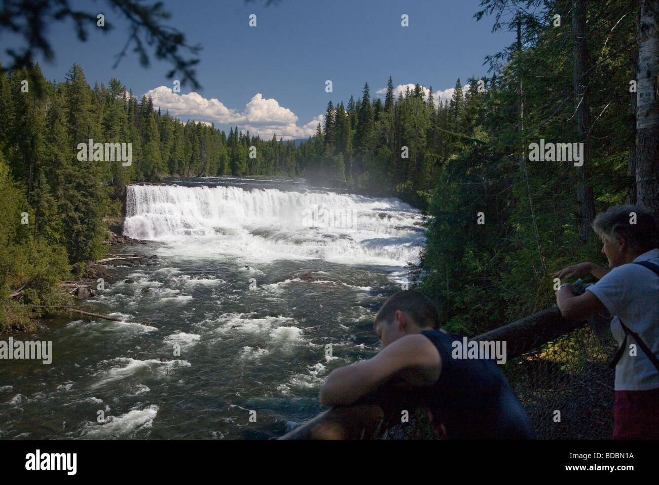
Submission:
<svg viewBox="0 0 659 485">
<path fill-rule="evenodd" d="M 500 4 L 484 1 L 476 18 L 497 15 L 517 40 L 488 56 L 488 75 L 457 78 L 438 104 L 432 87 L 396 97 L 389 77 L 382 100 L 366 82 L 345 104 L 330 100 L 297 147 L 175 119 L 117 79 L 92 88 L 76 64 L 61 82 L 38 64 L 0 73 L 0 329 L 65 304 L 55 283 L 103 256 L 126 185 L 173 176 L 304 177 L 419 207 L 427 244 L 410 275 L 451 331 L 476 335 L 551 306 L 554 271 L 605 261 L 596 212 L 659 205 L 637 183 L 657 173 L 656 157 L 637 160 L 638 5 L 558 0 L 534 13 L 511 1 L 504 21 Z M 131 143 L 132 164 L 78 160 L 88 139 Z M 541 139 L 583 143 L 583 165 L 530 160 Z"/>
</svg>

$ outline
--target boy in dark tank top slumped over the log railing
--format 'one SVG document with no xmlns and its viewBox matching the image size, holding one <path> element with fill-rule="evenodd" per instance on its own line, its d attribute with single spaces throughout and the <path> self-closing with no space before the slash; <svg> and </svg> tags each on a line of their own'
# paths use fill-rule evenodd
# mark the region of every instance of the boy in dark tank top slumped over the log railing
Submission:
<svg viewBox="0 0 659 485">
<path fill-rule="evenodd" d="M 375 320 L 380 352 L 332 372 L 320 403 L 355 403 L 392 377 L 420 387 L 433 424 L 449 439 L 534 438 L 529 416 L 515 391 L 489 358 L 453 358 L 463 337 L 440 329 L 430 299 L 413 290 L 397 292 Z"/>
</svg>

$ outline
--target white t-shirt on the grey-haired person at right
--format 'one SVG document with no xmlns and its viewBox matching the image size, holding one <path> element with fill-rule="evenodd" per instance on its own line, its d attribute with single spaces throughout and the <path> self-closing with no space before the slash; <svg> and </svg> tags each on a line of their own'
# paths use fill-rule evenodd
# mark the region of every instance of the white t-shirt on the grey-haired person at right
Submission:
<svg viewBox="0 0 659 485">
<path fill-rule="evenodd" d="M 636 261 L 648 261 L 659 265 L 659 249 L 652 249 L 637 257 Z M 625 339 L 620 325 L 622 320 L 629 329 L 643 339 L 646 346 L 659 355 L 659 276 L 641 265 L 620 265 L 604 277 L 588 286 L 614 315 L 611 331 L 618 345 Z M 630 344 L 635 344 L 636 355 L 629 355 Z M 631 335 L 627 337 L 627 349 L 616 366 L 616 391 L 646 391 L 659 388 L 659 371 L 648 359 L 641 346 Z"/>
</svg>

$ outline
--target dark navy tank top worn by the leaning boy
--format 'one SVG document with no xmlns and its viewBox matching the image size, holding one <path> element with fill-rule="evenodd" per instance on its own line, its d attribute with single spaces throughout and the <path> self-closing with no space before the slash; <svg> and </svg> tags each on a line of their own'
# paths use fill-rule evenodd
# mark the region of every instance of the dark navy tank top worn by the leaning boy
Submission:
<svg viewBox="0 0 659 485">
<path fill-rule="evenodd" d="M 451 356 L 462 335 L 439 330 L 421 332 L 442 358 L 440 378 L 425 393 L 436 426 L 449 439 L 533 439 L 527 412 L 494 359 Z M 466 350 L 466 349 L 465 349 Z"/>
</svg>

